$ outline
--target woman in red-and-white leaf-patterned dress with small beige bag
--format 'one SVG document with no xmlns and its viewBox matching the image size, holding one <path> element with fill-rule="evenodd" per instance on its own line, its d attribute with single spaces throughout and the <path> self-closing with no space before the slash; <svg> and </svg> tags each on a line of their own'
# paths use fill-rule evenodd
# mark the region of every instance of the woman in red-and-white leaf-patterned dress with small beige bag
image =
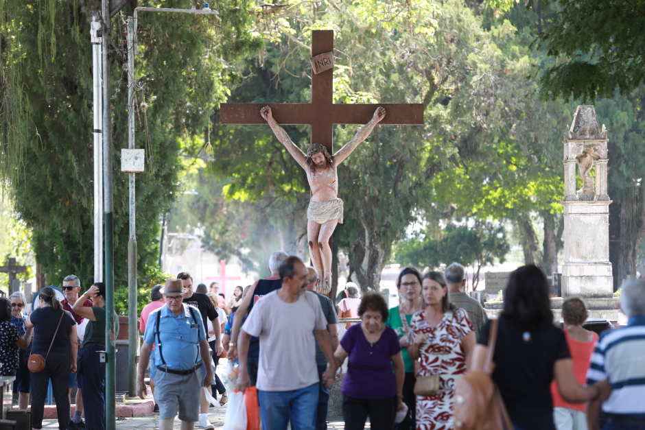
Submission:
<svg viewBox="0 0 645 430">
<path fill-rule="evenodd" d="M 454 429 L 454 388 L 464 374 L 475 347 L 475 333 L 466 311 L 450 302 L 446 280 L 440 272 L 423 275 L 421 293 L 427 303 L 412 317 L 408 354 L 419 360 L 418 377 L 440 374 L 439 390 L 417 396 L 417 430 Z"/>
</svg>

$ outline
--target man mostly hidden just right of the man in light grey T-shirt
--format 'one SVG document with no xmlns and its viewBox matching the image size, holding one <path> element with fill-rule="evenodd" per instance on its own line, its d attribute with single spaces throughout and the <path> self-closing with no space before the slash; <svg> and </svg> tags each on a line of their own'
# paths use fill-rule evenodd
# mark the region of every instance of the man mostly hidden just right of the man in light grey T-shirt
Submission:
<svg viewBox="0 0 645 430">
<path fill-rule="evenodd" d="M 316 291 L 316 287 L 320 284 L 318 272 L 314 267 L 307 266 L 309 269 L 309 281 L 305 287 L 309 291 Z M 338 317 L 336 316 L 336 308 L 333 306 L 331 299 L 323 294 L 316 292 L 316 296 L 320 300 L 320 307 L 322 307 L 322 314 L 325 315 L 327 320 L 327 331 L 331 338 L 331 347 L 334 351 L 338 348 Z M 329 406 L 329 392 L 322 381 L 322 374 L 327 370 L 327 359 L 325 354 L 320 350 L 320 346 L 316 344 L 316 365 L 318 365 L 318 376 L 320 383 L 318 383 L 318 411 L 316 411 L 316 430 L 327 430 L 327 409 Z"/>
</svg>

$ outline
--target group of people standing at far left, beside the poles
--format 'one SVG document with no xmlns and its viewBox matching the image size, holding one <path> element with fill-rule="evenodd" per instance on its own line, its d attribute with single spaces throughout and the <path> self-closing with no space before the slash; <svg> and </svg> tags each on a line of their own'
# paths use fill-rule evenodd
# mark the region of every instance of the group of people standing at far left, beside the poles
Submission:
<svg viewBox="0 0 645 430">
<path fill-rule="evenodd" d="M 105 429 L 105 364 L 99 359 L 105 350 L 105 285 L 80 290 L 79 278 L 69 275 L 65 298 L 59 300 L 54 287 L 40 289 L 31 313 L 21 292 L 0 298 L 0 376 L 15 377 L 18 407 L 31 406 L 32 429 L 43 427 L 50 383 L 60 430 Z M 37 366 L 38 356 L 43 366 Z"/>
</svg>

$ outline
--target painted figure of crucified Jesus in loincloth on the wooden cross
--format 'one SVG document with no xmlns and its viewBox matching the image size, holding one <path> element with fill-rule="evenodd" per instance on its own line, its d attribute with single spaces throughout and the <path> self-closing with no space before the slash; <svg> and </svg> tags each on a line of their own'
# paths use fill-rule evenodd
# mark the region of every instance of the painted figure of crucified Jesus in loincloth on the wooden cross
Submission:
<svg viewBox="0 0 645 430">
<path fill-rule="evenodd" d="M 309 255 L 319 274 L 322 274 L 320 292 L 327 294 L 331 289 L 331 248 L 329 239 L 336 225 L 342 224 L 342 200 L 338 198 L 338 172 L 342 161 L 367 139 L 374 127 L 385 118 L 384 108 L 377 108 L 372 119 L 363 126 L 346 145 L 336 154 L 329 154 L 325 146 L 312 143 L 305 154 L 273 118 L 271 108 L 261 108 L 263 119 L 271 127 L 275 136 L 287 148 L 296 162 L 305 169 L 312 199 L 307 209 L 307 239 Z"/>
</svg>

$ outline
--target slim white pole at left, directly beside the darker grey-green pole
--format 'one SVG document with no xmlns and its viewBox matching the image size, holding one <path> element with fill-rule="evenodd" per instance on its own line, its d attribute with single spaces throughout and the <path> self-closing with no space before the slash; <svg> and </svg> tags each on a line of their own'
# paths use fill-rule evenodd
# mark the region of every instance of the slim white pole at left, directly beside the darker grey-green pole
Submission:
<svg viewBox="0 0 645 430">
<path fill-rule="evenodd" d="M 92 80 L 94 88 L 94 282 L 103 281 L 103 62 L 100 15 L 95 12 L 91 23 Z"/>
</svg>

